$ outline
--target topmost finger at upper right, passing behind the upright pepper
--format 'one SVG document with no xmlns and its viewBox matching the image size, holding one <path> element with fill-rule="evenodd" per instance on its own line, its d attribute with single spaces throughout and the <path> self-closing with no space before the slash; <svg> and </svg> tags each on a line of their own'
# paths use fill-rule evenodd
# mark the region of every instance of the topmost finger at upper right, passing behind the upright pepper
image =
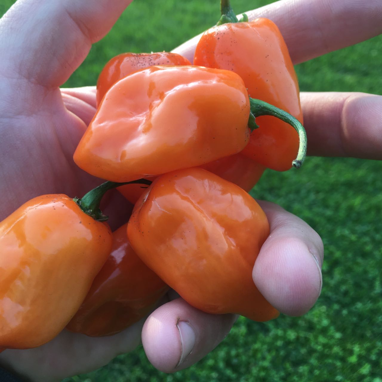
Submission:
<svg viewBox="0 0 382 382">
<path fill-rule="evenodd" d="M 265 17 L 274 21 L 285 39 L 293 63 L 310 60 L 382 33 L 380 0 L 280 0 L 246 14 L 249 20 Z M 193 60 L 200 36 L 173 52 Z"/>
</svg>

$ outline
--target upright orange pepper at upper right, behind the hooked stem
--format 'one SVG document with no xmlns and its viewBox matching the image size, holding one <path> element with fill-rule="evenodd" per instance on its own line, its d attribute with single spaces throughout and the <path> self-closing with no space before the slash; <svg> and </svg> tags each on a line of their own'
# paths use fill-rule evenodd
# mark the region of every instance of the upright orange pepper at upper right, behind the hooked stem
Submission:
<svg viewBox="0 0 382 382">
<path fill-rule="evenodd" d="M 285 41 L 269 19 L 228 23 L 208 29 L 197 44 L 194 65 L 232 70 L 248 94 L 296 117 L 303 116 L 295 70 Z M 274 117 L 256 118 L 243 154 L 265 167 L 288 170 L 298 151 L 298 134 Z"/>
</svg>

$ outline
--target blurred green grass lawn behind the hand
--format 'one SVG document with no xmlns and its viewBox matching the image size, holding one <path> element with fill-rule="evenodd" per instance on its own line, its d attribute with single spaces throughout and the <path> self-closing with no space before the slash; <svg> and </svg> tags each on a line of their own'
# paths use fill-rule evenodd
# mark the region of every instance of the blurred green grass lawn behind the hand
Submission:
<svg viewBox="0 0 382 382">
<path fill-rule="evenodd" d="M 236 12 L 267 0 L 233 0 Z M 2 0 L 0 15 L 13 3 Z M 95 84 L 121 52 L 171 50 L 212 26 L 217 0 L 135 0 L 95 44 L 66 86 Z M 302 91 L 381 94 L 382 36 L 296 66 Z M 382 163 L 309 157 L 285 173 L 268 171 L 253 195 L 308 222 L 325 245 L 322 294 L 303 317 L 267 323 L 240 318 L 202 361 L 172 375 L 159 372 L 141 346 L 66 382 L 365 381 L 382 382 Z"/>
</svg>

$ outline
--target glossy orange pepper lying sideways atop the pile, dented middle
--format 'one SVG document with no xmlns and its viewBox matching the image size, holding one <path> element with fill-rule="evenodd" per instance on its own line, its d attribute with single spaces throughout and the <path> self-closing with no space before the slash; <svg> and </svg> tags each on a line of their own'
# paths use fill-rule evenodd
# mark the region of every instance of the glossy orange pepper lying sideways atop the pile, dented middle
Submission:
<svg viewBox="0 0 382 382">
<path fill-rule="evenodd" d="M 151 66 L 108 90 L 74 161 L 116 182 L 199 166 L 243 150 L 249 107 L 231 71 Z"/>
</svg>

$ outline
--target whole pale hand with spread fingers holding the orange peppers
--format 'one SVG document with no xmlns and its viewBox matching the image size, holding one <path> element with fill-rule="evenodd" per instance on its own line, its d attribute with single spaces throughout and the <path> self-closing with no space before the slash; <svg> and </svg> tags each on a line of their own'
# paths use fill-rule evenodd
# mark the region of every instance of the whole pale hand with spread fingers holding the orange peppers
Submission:
<svg viewBox="0 0 382 382">
<path fill-rule="evenodd" d="M 34 196 L 81 196 L 101 182 L 76 168 L 72 160 L 95 112 L 94 88 L 60 92 L 58 87 L 130 2 L 19 0 L 0 21 L 0 220 Z M 248 15 L 273 19 L 296 63 L 382 32 L 379 0 L 283 0 Z M 195 44 L 193 40 L 175 51 L 192 60 Z M 301 98 L 310 154 L 382 159 L 382 97 L 319 93 Z M 359 138 L 356 127 L 366 131 L 366 138 Z M 325 146 L 329 139 L 333 144 Z M 116 228 L 131 207 L 117 193 L 106 204 L 105 212 Z M 320 294 L 322 242 L 306 223 L 281 207 L 268 202 L 261 206 L 271 235 L 253 270 L 256 285 L 281 312 L 303 314 Z M 183 369 L 215 348 L 235 316 L 206 314 L 181 298 L 169 299 L 146 321 L 120 334 L 90 338 L 64 330 L 39 348 L 5 350 L 0 362 L 34 381 L 58 381 L 133 350 L 142 332 L 146 354 L 155 367 L 166 372 Z"/>
</svg>

